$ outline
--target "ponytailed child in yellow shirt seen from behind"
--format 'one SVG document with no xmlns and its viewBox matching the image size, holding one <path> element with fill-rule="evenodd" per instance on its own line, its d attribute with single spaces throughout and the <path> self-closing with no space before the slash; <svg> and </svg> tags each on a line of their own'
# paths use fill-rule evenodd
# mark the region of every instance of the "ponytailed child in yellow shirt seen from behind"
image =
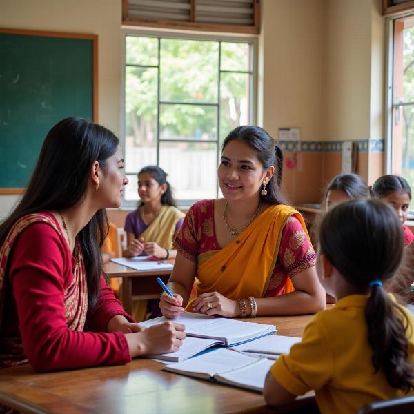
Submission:
<svg viewBox="0 0 414 414">
<path fill-rule="evenodd" d="M 270 368 L 268 404 L 313 389 L 322 414 L 341 414 L 413 395 L 414 318 L 382 286 L 400 265 L 402 239 L 397 217 L 376 199 L 348 201 L 326 214 L 317 271 L 338 302 L 318 313 L 302 342 Z"/>
</svg>

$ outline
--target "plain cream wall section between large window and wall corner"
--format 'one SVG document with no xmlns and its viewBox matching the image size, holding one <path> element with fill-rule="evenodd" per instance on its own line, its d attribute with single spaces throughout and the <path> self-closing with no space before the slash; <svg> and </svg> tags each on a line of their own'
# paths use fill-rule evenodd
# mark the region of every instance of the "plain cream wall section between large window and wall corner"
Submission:
<svg viewBox="0 0 414 414">
<path fill-rule="evenodd" d="M 322 118 L 323 0 L 262 0 L 259 121 L 270 135 L 300 127 L 319 140 Z"/>
</svg>

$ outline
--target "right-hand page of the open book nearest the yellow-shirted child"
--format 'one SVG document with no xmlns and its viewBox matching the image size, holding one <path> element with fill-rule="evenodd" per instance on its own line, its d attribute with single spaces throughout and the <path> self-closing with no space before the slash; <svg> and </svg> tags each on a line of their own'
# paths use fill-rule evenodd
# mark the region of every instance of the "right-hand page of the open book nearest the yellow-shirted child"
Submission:
<svg viewBox="0 0 414 414">
<path fill-rule="evenodd" d="M 262 358 L 250 366 L 216 374 L 215 378 L 225 384 L 241 386 L 254 391 L 263 391 L 264 380 L 266 380 L 266 375 L 273 364 L 274 361 Z"/>
</svg>

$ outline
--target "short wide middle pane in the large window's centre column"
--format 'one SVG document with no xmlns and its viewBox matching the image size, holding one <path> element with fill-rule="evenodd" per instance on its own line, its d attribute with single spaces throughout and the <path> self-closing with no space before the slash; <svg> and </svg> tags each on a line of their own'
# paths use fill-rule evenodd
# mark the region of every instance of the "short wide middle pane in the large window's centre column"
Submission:
<svg viewBox="0 0 414 414">
<path fill-rule="evenodd" d="M 217 106 L 161 105 L 161 139 L 217 139 Z"/>
</svg>

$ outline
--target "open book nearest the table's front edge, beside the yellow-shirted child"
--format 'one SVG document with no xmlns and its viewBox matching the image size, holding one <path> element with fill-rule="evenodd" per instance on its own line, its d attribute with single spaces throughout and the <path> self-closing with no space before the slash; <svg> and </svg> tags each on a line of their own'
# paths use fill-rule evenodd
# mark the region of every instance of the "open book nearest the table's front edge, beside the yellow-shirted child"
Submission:
<svg viewBox="0 0 414 414">
<path fill-rule="evenodd" d="M 226 348 L 166 365 L 162 369 L 262 392 L 264 380 L 273 363 L 270 359 L 252 357 Z"/>
</svg>

